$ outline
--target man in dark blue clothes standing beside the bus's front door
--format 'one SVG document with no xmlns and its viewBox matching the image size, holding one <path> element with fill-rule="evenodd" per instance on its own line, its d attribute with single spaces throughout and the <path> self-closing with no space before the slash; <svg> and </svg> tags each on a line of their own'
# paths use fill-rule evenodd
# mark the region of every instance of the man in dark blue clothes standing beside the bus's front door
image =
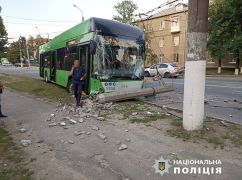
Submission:
<svg viewBox="0 0 242 180">
<path fill-rule="evenodd" d="M 70 76 L 72 76 L 72 87 L 76 98 L 76 106 L 80 106 L 82 94 L 82 81 L 85 79 L 85 70 L 80 67 L 79 60 L 74 61 Z"/>
</svg>

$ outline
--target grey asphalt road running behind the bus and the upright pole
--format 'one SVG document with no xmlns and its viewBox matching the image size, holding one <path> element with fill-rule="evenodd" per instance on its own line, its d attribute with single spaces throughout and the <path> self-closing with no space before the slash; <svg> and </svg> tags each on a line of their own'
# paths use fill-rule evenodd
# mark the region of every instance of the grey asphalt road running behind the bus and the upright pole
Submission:
<svg viewBox="0 0 242 180">
<path fill-rule="evenodd" d="M 15 68 L 1 67 L 0 74 L 13 74 L 17 76 L 39 77 L 36 67 Z M 144 100 L 167 107 L 182 109 L 183 78 L 164 79 L 167 86 L 174 86 L 175 92 L 160 94 Z M 147 86 L 158 86 L 157 81 L 148 79 Z M 205 114 L 207 116 L 233 121 L 242 124 L 242 78 L 234 77 L 207 77 L 205 92 Z"/>
</svg>

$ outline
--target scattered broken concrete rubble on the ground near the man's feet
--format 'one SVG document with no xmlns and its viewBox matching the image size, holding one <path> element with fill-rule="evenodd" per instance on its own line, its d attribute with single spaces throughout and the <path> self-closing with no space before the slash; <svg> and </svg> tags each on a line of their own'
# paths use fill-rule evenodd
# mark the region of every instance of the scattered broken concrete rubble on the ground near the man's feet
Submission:
<svg viewBox="0 0 242 180">
<path fill-rule="evenodd" d="M 60 127 L 63 129 L 69 129 L 71 126 L 74 127 L 83 127 L 89 126 L 90 131 L 88 128 L 83 130 L 76 130 L 73 132 L 73 138 L 79 136 L 96 136 L 104 143 L 108 142 L 108 137 L 102 131 L 101 126 L 98 126 L 100 123 L 105 122 L 105 117 L 100 116 L 100 111 L 108 110 L 112 111 L 115 110 L 116 105 L 113 103 L 105 103 L 100 104 L 91 99 L 85 99 L 82 101 L 82 107 L 75 107 L 75 105 L 68 105 L 68 104 L 57 104 L 55 112 L 50 114 L 49 117 L 46 119 L 49 128 Z M 97 121 L 95 123 L 95 120 Z M 128 130 L 125 130 L 128 132 Z M 126 138 L 123 141 L 130 142 L 131 140 Z M 74 140 L 67 140 L 66 144 L 75 144 Z M 120 140 L 114 142 L 117 145 L 118 151 L 123 151 L 128 148 L 126 144 L 122 144 Z"/>
</svg>

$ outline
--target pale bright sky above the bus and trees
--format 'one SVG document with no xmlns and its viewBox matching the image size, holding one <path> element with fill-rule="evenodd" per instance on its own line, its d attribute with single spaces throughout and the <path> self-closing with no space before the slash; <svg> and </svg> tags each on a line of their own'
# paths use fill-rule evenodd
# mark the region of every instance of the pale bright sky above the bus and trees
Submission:
<svg viewBox="0 0 242 180">
<path fill-rule="evenodd" d="M 113 6 L 121 0 L 0 0 L 1 16 L 8 32 L 8 37 L 16 40 L 20 35 L 29 37 L 39 33 L 50 38 L 81 21 L 84 18 L 100 17 L 112 19 Z M 167 0 L 133 0 L 138 5 L 136 13 L 149 11 Z M 24 20 L 25 19 L 25 20 Z M 37 28 L 36 28 L 37 27 Z"/>
</svg>

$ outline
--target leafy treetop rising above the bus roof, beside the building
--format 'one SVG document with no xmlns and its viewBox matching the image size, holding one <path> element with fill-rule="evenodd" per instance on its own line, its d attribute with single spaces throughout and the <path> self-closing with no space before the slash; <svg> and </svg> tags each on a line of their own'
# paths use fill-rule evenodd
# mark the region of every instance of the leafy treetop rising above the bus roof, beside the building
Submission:
<svg viewBox="0 0 242 180">
<path fill-rule="evenodd" d="M 114 20 L 131 25 L 134 24 L 134 12 L 138 9 L 138 6 L 132 0 L 118 2 L 114 9 L 118 13 L 117 16 L 113 16 Z"/>
</svg>

